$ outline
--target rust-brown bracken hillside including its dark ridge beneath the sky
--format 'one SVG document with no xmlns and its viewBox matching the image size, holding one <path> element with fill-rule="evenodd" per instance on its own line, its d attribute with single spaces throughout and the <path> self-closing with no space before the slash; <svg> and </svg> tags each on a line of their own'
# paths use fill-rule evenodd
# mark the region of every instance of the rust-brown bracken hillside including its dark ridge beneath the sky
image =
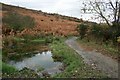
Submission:
<svg viewBox="0 0 120 80">
<path fill-rule="evenodd" d="M 62 16 L 58 14 L 44 13 L 42 11 L 2 4 L 2 17 L 8 15 L 9 13 L 18 13 L 34 18 L 34 28 L 24 29 L 20 32 L 20 34 L 52 34 L 61 36 L 77 35 L 77 24 L 82 22 L 82 20 L 79 20 L 77 18 Z M 3 25 L 3 31 L 5 30 L 5 25 Z"/>
</svg>

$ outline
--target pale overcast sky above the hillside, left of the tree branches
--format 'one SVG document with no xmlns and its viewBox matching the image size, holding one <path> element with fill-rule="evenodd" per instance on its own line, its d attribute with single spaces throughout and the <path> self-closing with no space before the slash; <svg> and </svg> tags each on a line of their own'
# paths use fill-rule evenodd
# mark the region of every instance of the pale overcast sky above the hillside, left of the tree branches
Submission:
<svg viewBox="0 0 120 80">
<path fill-rule="evenodd" d="M 6 4 L 88 20 L 91 18 L 91 15 L 82 14 L 80 11 L 83 1 L 84 0 L 0 0 L 0 2 Z"/>
</svg>

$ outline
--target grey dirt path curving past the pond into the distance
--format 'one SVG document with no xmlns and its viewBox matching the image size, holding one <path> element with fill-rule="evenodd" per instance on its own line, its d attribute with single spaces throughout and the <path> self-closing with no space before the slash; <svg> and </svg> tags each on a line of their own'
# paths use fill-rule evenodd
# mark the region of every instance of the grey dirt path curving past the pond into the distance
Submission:
<svg viewBox="0 0 120 80">
<path fill-rule="evenodd" d="M 81 55 L 85 63 L 91 65 L 93 68 L 102 70 L 111 78 L 118 78 L 118 62 L 95 51 L 84 51 L 75 41 L 76 39 L 77 37 L 70 38 L 65 43 Z"/>
</svg>

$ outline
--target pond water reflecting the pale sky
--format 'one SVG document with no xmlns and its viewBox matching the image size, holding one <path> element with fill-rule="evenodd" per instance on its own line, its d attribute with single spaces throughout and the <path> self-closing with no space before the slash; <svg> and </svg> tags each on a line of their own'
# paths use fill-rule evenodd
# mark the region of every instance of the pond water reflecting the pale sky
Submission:
<svg viewBox="0 0 120 80">
<path fill-rule="evenodd" d="M 22 70 L 26 67 L 38 71 L 38 69 L 42 67 L 48 74 L 60 73 L 60 67 L 62 66 L 61 62 L 54 62 L 51 51 L 38 53 L 35 56 L 25 58 L 19 62 L 10 61 L 10 64 L 15 66 L 18 70 Z"/>
</svg>

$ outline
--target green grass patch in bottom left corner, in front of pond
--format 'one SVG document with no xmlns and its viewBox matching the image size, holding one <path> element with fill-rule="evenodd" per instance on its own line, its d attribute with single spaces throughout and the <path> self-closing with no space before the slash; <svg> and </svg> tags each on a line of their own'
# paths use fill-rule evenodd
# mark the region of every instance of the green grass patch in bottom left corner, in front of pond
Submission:
<svg viewBox="0 0 120 80">
<path fill-rule="evenodd" d="M 2 77 L 3 78 L 37 78 L 38 75 L 35 71 L 23 68 L 22 70 L 18 71 L 13 66 L 2 63 Z"/>
</svg>

